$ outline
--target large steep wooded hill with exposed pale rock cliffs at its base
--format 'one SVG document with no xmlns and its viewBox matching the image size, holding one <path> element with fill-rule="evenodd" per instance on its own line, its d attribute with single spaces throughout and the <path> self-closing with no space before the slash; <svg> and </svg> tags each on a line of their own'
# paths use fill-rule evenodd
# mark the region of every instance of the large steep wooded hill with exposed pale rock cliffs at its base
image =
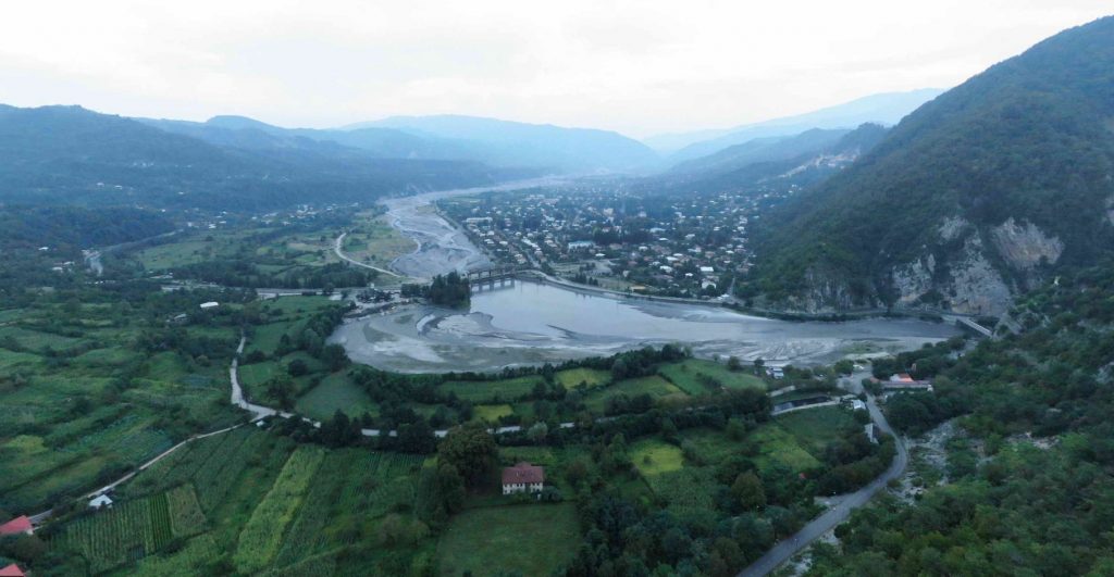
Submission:
<svg viewBox="0 0 1114 577">
<path fill-rule="evenodd" d="M 764 218 L 744 295 L 807 310 L 999 314 L 1114 246 L 1114 18 L 1064 31 L 919 108 Z"/>
</svg>

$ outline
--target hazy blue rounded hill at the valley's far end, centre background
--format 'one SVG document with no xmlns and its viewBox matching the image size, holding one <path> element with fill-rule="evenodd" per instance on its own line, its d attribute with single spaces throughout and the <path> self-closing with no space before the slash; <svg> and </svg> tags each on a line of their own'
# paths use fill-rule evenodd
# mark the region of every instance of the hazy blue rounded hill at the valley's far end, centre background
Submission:
<svg viewBox="0 0 1114 577">
<path fill-rule="evenodd" d="M 390 128 L 456 141 L 475 160 L 504 167 L 546 167 L 565 172 L 623 171 L 657 162 L 648 147 L 617 132 L 529 125 L 466 116 L 391 117 L 348 129 Z"/>
</svg>

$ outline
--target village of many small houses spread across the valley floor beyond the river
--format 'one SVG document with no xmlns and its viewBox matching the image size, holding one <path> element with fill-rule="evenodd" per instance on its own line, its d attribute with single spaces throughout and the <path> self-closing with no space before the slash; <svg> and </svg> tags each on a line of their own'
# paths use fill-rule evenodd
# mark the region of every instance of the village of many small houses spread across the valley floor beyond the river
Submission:
<svg viewBox="0 0 1114 577">
<path fill-rule="evenodd" d="M 438 208 L 499 263 L 623 292 L 713 299 L 752 266 L 749 226 L 792 190 L 673 196 L 583 185 Z"/>
</svg>

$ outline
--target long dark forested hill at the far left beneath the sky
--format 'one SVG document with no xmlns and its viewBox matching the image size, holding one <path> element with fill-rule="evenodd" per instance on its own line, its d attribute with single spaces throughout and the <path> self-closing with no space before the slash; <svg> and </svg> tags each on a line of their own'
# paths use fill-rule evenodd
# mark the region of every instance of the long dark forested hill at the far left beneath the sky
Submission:
<svg viewBox="0 0 1114 577">
<path fill-rule="evenodd" d="M 0 202 L 233 210 L 480 186 L 521 172 L 377 159 L 257 127 L 198 138 L 80 107 L 0 108 Z M 165 126 L 164 126 L 165 128 Z M 240 132 L 247 130 L 248 132 Z"/>
</svg>

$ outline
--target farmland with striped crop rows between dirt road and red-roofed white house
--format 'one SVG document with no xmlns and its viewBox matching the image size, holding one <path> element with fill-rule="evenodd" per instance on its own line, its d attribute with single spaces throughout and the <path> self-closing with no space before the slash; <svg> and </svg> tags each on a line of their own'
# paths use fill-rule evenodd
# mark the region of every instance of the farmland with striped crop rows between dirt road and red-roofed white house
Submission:
<svg viewBox="0 0 1114 577">
<path fill-rule="evenodd" d="M 80 558 L 89 574 L 292 574 L 355 550 L 365 559 L 348 567 L 383 574 L 374 535 L 395 511 L 412 508 L 422 461 L 365 448 L 295 447 L 241 427 L 172 454 L 120 487 L 113 509 L 63 525 L 50 547 Z M 391 563 L 409 563 L 414 553 Z"/>
</svg>

